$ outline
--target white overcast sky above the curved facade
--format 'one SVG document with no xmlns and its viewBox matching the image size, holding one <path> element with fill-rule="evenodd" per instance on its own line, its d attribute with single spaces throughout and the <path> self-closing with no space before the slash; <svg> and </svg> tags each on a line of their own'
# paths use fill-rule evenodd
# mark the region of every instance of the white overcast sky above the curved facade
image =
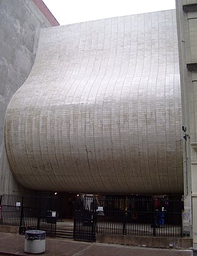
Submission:
<svg viewBox="0 0 197 256">
<path fill-rule="evenodd" d="M 175 0 L 43 0 L 60 25 L 157 10 L 175 9 Z"/>
</svg>

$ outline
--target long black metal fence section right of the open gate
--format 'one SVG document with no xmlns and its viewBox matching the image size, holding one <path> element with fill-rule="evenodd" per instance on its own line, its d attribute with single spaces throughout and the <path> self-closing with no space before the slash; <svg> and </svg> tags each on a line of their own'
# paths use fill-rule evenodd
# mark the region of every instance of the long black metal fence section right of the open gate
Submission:
<svg viewBox="0 0 197 256">
<path fill-rule="evenodd" d="M 169 198 L 97 198 L 97 233 L 180 237 L 182 205 Z"/>
</svg>

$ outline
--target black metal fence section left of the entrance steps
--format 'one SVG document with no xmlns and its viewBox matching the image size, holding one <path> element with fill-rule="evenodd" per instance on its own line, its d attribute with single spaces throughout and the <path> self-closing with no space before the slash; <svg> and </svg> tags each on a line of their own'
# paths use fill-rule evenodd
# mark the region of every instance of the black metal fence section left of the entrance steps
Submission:
<svg viewBox="0 0 197 256">
<path fill-rule="evenodd" d="M 41 229 L 55 236 L 57 197 L 18 196 L 4 194 L 0 200 L 0 224 L 18 226 L 19 233 L 27 229 Z"/>
</svg>

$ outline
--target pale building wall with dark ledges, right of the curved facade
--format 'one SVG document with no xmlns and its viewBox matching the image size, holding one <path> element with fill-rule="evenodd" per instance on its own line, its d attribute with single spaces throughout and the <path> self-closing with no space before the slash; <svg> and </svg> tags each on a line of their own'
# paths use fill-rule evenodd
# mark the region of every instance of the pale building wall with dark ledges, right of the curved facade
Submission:
<svg viewBox="0 0 197 256">
<path fill-rule="evenodd" d="M 193 247 L 197 247 L 197 1 L 177 0 L 180 81 L 184 130 L 185 211 L 183 233 L 193 226 Z M 192 220 L 191 220 L 192 213 Z"/>
</svg>

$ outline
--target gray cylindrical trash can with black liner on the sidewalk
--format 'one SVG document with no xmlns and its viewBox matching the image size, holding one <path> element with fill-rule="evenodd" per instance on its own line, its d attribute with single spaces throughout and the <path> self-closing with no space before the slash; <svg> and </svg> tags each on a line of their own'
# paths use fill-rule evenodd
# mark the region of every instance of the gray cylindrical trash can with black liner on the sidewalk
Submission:
<svg viewBox="0 0 197 256">
<path fill-rule="evenodd" d="M 46 232 L 42 230 L 25 231 L 25 252 L 28 254 L 41 254 L 45 252 Z"/>
</svg>

